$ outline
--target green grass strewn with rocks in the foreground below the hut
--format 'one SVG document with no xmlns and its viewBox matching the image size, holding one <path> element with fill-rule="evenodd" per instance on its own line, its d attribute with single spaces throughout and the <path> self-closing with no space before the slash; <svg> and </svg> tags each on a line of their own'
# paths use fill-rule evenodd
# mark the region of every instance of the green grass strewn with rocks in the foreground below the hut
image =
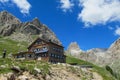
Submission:
<svg viewBox="0 0 120 80">
<path fill-rule="evenodd" d="M 49 73 L 50 66 L 47 62 L 35 61 L 35 60 L 17 60 L 17 59 L 2 59 L 0 58 L 0 66 L 5 65 L 5 68 L 0 68 L 0 74 L 11 72 L 13 66 L 20 67 L 21 70 L 27 70 L 32 74 L 35 74 L 34 68 L 41 70 L 43 75 Z"/>
</svg>

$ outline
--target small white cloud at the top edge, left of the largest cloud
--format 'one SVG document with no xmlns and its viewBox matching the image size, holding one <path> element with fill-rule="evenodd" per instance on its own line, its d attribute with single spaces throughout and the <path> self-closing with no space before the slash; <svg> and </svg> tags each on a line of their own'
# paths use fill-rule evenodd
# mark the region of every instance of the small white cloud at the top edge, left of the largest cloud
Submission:
<svg viewBox="0 0 120 80">
<path fill-rule="evenodd" d="M 71 2 L 70 0 L 60 0 L 60 8 L 66 12 L 67 10 L 70 10 L 72 9 L 72 7 L 74 6 L 74 3 Z"/>
</svg>

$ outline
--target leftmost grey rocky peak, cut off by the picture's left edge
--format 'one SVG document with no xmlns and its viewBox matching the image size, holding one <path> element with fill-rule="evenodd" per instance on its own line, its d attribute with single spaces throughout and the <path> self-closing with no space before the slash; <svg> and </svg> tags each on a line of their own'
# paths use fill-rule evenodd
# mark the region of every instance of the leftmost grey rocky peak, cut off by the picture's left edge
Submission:
<svg viewBox="0 0 120 80">
<path fill-rule="evenodd" d="M 0 12 L 0 35 L 9 36 L 15 31 L 16 24 L 20 24 L 20 20 L 15 18 L 7 11 Z"/>
</svg>

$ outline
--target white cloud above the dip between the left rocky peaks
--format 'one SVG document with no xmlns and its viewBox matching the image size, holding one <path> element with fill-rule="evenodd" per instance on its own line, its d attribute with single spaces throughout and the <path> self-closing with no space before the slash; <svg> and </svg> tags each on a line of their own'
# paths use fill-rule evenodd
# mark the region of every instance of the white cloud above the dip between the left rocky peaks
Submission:
<svg viewBox="0 0 120 80">
<path fill-rule="evenodd" d="M 12 2 L 15 3 L 18 8 L 20 8 L 21 13 L 29 14 L 31 5 L 27 0 L 12 0 Z"/>
</svg>

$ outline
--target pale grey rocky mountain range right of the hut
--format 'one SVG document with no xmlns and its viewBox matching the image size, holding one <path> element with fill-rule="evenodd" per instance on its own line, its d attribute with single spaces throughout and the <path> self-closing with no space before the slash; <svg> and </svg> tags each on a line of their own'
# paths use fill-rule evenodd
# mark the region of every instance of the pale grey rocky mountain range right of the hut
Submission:
<svg viewBox="0 0 120 80">
<path fill-rule="evenodd" d="M 74 50 L 72 52 L 72 50 Z M 69 48 L 71 54 L 76 54 L 77 58 L 92 62 L 94 64 L 105 66 L 111 65 L 120 60 L 120 38 L 117 39 L 108 49 L 93 48 L 87 51 L 82 51 L 80 54 L 78 47 Z M 76 52 L 76 53 L 74 53 Z"/>
</svg>

